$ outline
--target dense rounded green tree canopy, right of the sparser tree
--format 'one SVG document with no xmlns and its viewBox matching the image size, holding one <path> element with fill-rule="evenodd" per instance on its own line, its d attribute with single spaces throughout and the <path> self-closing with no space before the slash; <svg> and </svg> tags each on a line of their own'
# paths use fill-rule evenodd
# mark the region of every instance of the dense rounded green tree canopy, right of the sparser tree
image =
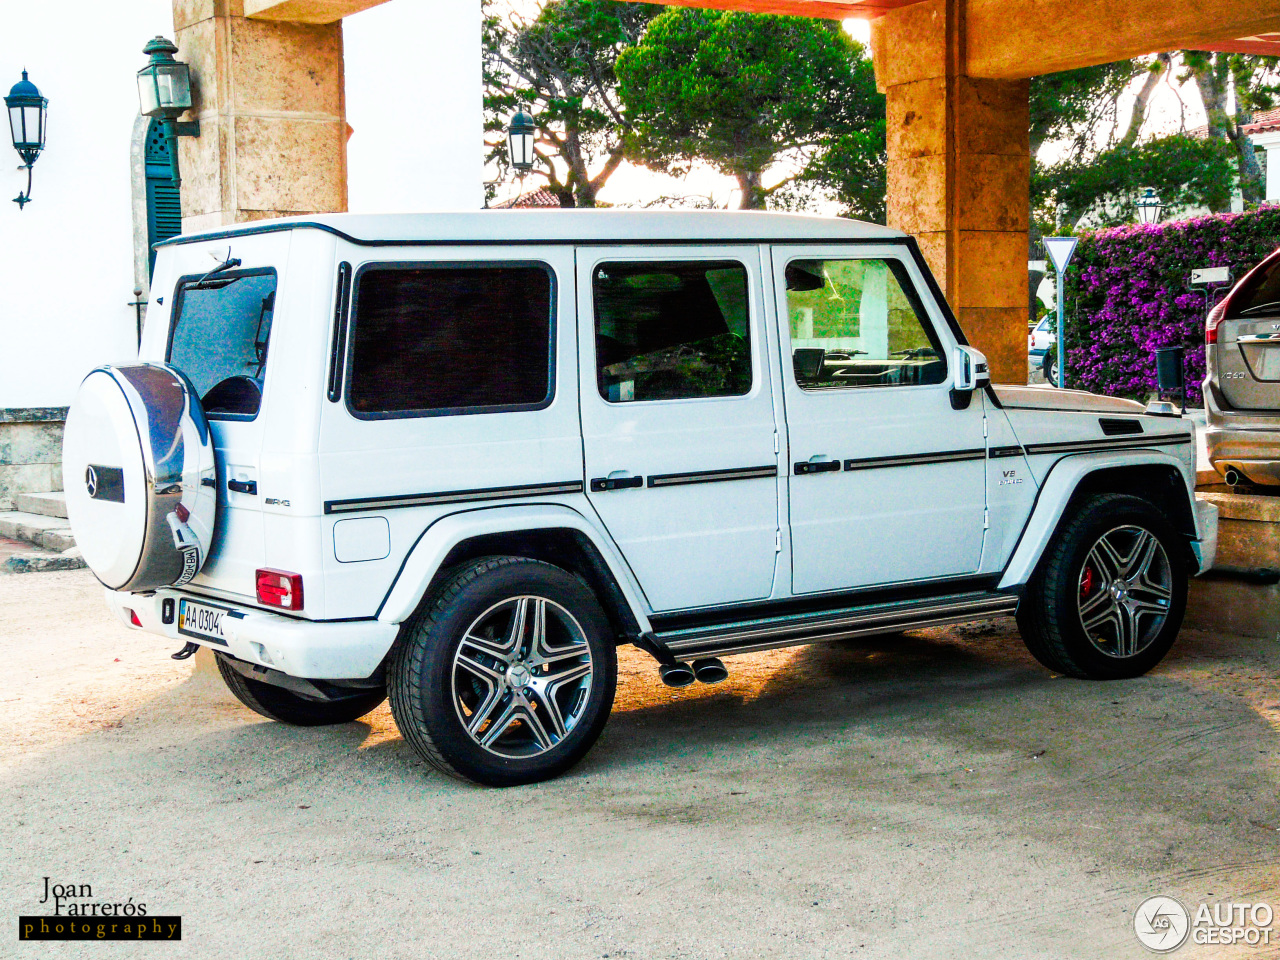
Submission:
<svg viewBox="0 0 1280 960">
<path fill-rule="evenodd" d="M 737 180 L 742 209 L 826 188 L 883 216 L 884 99 L 838 23 L 669 9 L 617 60 L 631 157 L 682 175 L 695 160 Z M 771 187 L 765 173 L 788 174 Z"/>
</svg>

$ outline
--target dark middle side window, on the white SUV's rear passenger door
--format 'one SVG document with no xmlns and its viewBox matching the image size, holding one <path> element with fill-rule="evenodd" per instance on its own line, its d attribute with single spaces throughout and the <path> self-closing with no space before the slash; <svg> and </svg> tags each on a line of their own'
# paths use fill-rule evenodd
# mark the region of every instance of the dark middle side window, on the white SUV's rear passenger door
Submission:
<svg viewBox="0 0 1280 960">
<path fill-rule="evenodd" d="M 739 397 L 751 389 L 741 264 L 600 264 L 591 287 L 596 379 L 607 401 Z"/>
</svg>

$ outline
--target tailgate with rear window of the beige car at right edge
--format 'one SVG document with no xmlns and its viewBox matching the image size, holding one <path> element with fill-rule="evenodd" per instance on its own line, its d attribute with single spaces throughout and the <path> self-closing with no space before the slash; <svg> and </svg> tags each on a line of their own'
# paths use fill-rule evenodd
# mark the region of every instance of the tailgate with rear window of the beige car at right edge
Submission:
<svg viewBox="0 0 1280 960">
<path fill-rule="evenodd" d="M 1233 294 L 1217 337 L 1228 402 L 1236 410 L 1280 410 L 1280 259 Z"/>
</svg>

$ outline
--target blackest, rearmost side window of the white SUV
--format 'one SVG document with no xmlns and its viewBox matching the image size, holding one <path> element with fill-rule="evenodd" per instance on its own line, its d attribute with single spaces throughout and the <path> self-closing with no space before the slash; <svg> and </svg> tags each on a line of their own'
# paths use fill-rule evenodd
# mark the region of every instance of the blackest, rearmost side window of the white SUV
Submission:
<svg viewBox="0 0 1280 960">
<path fill-rule="evenodd" d="M 541 266 L 365 270 L 356 415 L 538 407 L 552 390 L 552 276 Z"/>
</svg>

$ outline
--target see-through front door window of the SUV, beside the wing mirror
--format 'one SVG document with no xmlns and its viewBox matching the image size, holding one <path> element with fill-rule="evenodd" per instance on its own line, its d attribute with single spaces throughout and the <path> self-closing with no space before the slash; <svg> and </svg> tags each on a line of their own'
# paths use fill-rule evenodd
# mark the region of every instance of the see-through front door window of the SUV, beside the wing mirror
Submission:
<svg viewBox="0 0 1280 960">
<path fill-rule="evenodd" d="M 946 380 L 941 344 L 897 260 L 792 260 L 786 284 L 792 369 L 801 388 Z"/>
</svg>

